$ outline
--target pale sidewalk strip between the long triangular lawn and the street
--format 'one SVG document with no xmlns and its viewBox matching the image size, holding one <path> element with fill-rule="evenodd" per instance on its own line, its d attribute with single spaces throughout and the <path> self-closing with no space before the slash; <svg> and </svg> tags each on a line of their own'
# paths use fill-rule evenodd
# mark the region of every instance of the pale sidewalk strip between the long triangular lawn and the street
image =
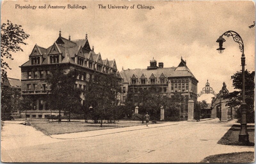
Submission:
<svg viewBox="0 0 256 164">
<path fill-rule="evenodd" d="M 84 131 L 84 132 L 76 132 L 76 133 L 66 133 L 66 134 L 57 134 L 51 135 L 51 138 L 56 139 L 76 139 L 76 138 L 86 138 L 86 137 L 94 137 L 101 136 L 106 134 L 114 134 L 120 133 L 124 131 L 134 131 L 134 130 L 142 130 L 142 129 L 150 129 L 164 126 L 177 125 L 178 123 L 158 123 L 158 124 L 149 124 L 148 127 L 146 125 L 139 126 L 130 126 L 124 128 L 114 128 L 114 129 L 104 129 L 104 130 L 94 130 L 94 131 Z"/>
</svg>

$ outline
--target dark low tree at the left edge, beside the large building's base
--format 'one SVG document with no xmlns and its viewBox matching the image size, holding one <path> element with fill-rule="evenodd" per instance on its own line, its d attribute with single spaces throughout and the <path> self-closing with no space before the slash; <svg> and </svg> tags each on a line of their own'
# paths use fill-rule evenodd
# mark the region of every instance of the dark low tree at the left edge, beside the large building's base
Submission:
<svg viewBox="0 0 256 164">
<path fill-rule="evenodd" d="M 11 120 L 12 111 L 20 107 L 20 91 L 8 87 L 1 88 L 1 120 Z"/>
</svg>

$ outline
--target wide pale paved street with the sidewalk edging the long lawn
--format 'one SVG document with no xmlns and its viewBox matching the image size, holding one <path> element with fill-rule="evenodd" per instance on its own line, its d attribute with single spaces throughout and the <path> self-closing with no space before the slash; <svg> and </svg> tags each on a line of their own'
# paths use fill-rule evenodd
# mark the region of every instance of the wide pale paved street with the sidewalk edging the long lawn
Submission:
<svg viewBox="0 0 256 164">
<path fill-rule="evenodd" d="M 3 162 L 185 163 L 200 162 L 213 154 L 254 151 L 254 147 L 217 144 L 231 124 L 214 123 L 214 120 L 150 124 L 149 128 L 143 125 L 51 137 L 32 126 L 14 123 L 5 122 L 2 130 Z"/>
</svg>

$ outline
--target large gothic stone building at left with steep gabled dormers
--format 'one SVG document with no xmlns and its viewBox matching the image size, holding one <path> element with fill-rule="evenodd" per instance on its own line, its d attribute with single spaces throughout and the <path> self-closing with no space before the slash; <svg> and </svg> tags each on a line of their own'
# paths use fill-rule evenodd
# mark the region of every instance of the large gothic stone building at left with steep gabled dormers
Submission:
<svg viewBox="0 0 256 164">
<path fill-rule="evenodd" d="M 115 59 L 102 60 L 100 53 L 96 54 L 93 46 L 90 47 L 87 34 L 85 39 L 70 40 L 70 36 L 69 39 L 61 37 L 60 31 L 52 46 L 43 48 L 36 44 L 29 55 L 29 61 L 20 66 L 21 94 L 33 95 L 33 104 L 31 110 L 27 111 L 27 117 L 45 118 L 50 115 L 51 107 L 47 103 L 47 95 L 51 94 L 51 89 L 45 82 L 45 77 L 57 64 L 65 71 L 78 70 L 80 74 L 75 87 L 82 89 L 85 89 L 86 82 L 95 71 L 120 75 Z M 61 115 L 63 114 L 62 111 Z M 58 115 L 58 109 L 52 109 L 52 115 Z M 25 112 L 21 112 L 21 117 L 25 117 Z"/>
</svg>

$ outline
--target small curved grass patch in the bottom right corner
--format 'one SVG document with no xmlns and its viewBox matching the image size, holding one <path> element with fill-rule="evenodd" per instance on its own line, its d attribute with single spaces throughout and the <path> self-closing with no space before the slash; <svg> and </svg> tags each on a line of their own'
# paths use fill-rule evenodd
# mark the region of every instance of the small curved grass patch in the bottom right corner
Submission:
<svg viewBox="0 0 256 164">
<path fill-rule="evenodd" d="M 227 153 L 211 155 L 201 163 L 250 163 L 254 162 L 254 152 L 238 152 L 238 153 Z"/>
</svg>

